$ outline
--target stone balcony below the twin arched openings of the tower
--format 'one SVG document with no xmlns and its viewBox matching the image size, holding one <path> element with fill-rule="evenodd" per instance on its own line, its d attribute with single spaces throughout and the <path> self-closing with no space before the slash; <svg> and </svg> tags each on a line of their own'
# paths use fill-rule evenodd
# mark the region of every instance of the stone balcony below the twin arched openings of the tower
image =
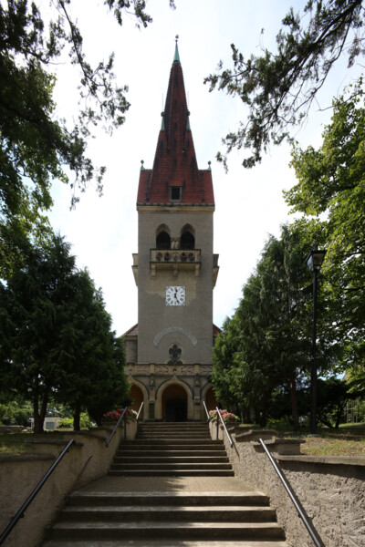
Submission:
<svg viewBox="0 0 365 547">
<path fill-rule="evenodd" d="M 179 270 L 193 270 L 195 279 L 199 278 L 201 269 L 200 249 L 151 249 L 151 276 L 157 270 L 172 270 L 176 277 Z"/>
</svg>

